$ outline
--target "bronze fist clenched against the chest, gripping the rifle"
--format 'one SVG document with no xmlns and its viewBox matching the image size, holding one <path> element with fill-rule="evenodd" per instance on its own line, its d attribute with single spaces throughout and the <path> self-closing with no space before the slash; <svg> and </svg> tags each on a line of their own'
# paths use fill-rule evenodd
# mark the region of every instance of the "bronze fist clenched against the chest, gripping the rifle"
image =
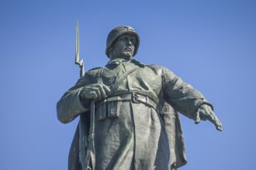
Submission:
<svg viewBox="0 0 256 170">
<path fill-rule="evenodd" d="M 83 87 L 79 95 L 82 100 L 102 100 L 108 97 L 109 93 L 110 89 L 105 84 L 94 83 Z"/>
</svg>

